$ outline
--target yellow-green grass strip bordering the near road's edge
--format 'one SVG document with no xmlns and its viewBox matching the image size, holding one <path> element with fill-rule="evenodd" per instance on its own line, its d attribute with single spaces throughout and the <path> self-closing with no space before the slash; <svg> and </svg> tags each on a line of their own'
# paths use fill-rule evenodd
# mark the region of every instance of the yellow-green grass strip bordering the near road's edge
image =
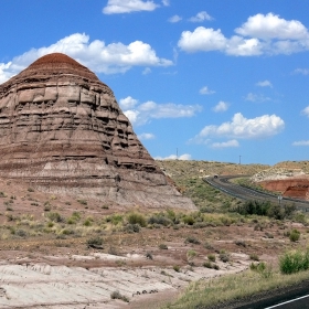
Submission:
<svg viewBox="0 0 309 309">
<path fill-rule="evenodd" d="M 161 308 L 221 308 L 228 302 L 294 286 L 309 278 L 309 270 L 283 275 L 279 269 L 267 268 L 265 273 L 247 269 L 238 274 L 191 283 L 174 302 L 167 303 Z"/>
</svg>

